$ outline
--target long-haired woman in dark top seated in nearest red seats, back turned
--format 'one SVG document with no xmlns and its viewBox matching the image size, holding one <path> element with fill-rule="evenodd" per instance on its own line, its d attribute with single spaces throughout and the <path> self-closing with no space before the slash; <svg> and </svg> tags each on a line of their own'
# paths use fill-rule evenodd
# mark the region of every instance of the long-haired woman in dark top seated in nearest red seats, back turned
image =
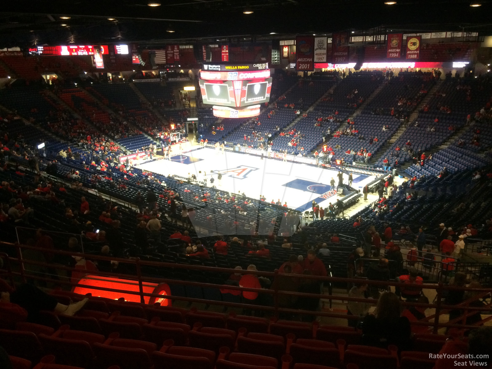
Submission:
<svg viewBox="0 0 492 369">
<path fill-rule="evenodd" d="M 363 343 L 369 346 L 388 347 L 395 344 L 400 350 L 410 345 L 410 322 L 401 316 L 400 299 L 393 292 L 379 296 L 374 314 L 364 318 L 362 325 Z"/>
</svg>

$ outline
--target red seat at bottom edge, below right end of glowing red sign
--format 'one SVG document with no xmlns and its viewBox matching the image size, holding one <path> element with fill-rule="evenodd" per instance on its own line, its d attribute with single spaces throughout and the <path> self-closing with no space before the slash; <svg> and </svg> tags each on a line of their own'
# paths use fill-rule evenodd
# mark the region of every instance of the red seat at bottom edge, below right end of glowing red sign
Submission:
<svg viewBox="0 0 492 369">
<path fill-rule="evenodd" d="M 214 351 L 180 346 L 161 351 L 152 353 L 154 369 L 213 369 L 215 365 Z"/>
</svg>

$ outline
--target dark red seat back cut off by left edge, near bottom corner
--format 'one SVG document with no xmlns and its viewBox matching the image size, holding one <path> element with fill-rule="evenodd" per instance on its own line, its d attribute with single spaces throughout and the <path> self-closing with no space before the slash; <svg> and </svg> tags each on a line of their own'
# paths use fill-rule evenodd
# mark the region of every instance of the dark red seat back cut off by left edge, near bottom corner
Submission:
<svg viewBox="0 0 492 369">
<path fill-rule="evenodd" d="M 43 347 L 32 332 L 0 329 L 0 346 L 7 354 L 37 363 L 43 354 Z"/>
</svg>

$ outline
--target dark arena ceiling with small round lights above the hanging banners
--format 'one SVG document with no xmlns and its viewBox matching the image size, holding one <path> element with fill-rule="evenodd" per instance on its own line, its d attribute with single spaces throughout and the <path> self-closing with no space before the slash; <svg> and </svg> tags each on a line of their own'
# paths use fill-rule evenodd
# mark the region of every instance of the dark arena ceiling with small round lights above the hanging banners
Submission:
<svg viewBox="0 0 492 369">
<path fill-rule="evenodd" d="M 472 2 L 481 6 L 470 6 L 470 0 L 15 0 L 0 11 L 0 48 L 69 41 L 241 42 L 371 29 L 492 34 L 492 0 Z"/>
</svg>

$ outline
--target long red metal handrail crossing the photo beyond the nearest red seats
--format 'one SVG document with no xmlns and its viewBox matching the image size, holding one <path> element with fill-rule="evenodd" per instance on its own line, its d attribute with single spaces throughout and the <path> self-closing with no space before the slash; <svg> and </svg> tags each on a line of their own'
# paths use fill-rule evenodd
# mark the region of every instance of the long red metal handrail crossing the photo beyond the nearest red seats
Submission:
<svg viewBox="0 0 492 369">
<path fill-rule="evenodd" d="M 339 301 L 353 301 L 353 302 L 364 302 L 364 303 L 369 303 L 369 304 L 376 304 L 377 301 L 371 300 L 371 299 L 358 299 L 358 298 L 351 298 L 348 296 L 336 296 L 336 295 L 324 295 L 324 294 L 308 294 L 308 293 L 301 293 L 301 292 L 289 292 L 289 291 L 282 291 L 278 289 L 278 277 L 291 277 L 291 278 L 296 278 L 296 279 L 314 279 L 318 281 L 328 281 L 328 282 L 345 282 L 345 283 L 361 283 L 361 279 L 356 279 L 356 278 L 339 278 L 339 277 L 318 277 L 318 276 L 305 276 L 305 275 L 292 275 L 292 274 L 282 274 L 278 273 L 278 270 L 275 270 L 275 272 L 259 272 L 259 271 L 247 271 L 247 270 L 237 270 L 237 269 L 228 269 L 228 268 L 216 268 L 216 267 L 206 267 L 206 266 L 201 266 L 201 265 L 188 265 L 188 264 L 173 264 L 173 263 L 164 263 L 164 262 L 154 262 L 154 261 L 145 261 L 145 260 L 140 260 L 139 258 L 135 259 L 124 259 L 124 258 L 115 258 L 115 257 L 107 257 L 107 256 L 100 256 L 100 255 L 92 255 L 92 254 L 83 254 L 83 253 L 77 253 L 77 252 L 70 252 L 70 251 L 62 251 L 62 250 L 46 250 L 44 248 L 39 248 L 35 246 L 25 246 L 25 245 L 19 245 L 19 244 L 11 244 L 11 243 L 6 243 L 6 242 L 0 242 L 0 245 L 5 245 L 5 246 L 13 246 L 17 249 L 17 254 L 18 257 L 9 257 L 5 253 L 1 253 L 0 257 L 3 257 L 4 259 L 8 260 L 8 266 L 10 265 L 10 262 L 18 262 L 20 265 L 20 272 L 12 272 L 10 268 L 7 270 L 6 274 L 9 275 L 11 278 L 11 281 L 13 281 L 13 276 L 18 276 L 21 277 L 23 281 L 26 280 L 26 270 L 24 269 L 24 264 L 31 264 L 31 265 L 37 265 L 37 266 L 46 266 L 46 267 L 52 267 L 52 268 L 58 268 L 66 271 L 77 271 L 80 272 L 80 269 L 75 269 L 75 268 L 70 268 L 66 267 L 63 265 L 57 265 L 57 264 L 49 264 L 49 263 L 43 263 L 43 262 L 37 262 L 33 260 L 26 260 L 22 257 L 22 249 L 34 249 L 38 250 L 40 252 L 49 252 L 51 254 L 61 254 L 61 255 L 70 255 L 70 256 L 81 256 L 81 257 L 86 257 L 90 259 L 95 259 L 95 260 L 114 260 L 114 261 L 119 261 L 123 263 L 130 263 L 130 264 L 135 264 L 136 265 L 136 272 L 137 275 L 126 275 L 126 274 L 116 274 L 116 273 L 110 273 L 110 272 L 101 272 L 101 271 L 94 271 L 90 272 L 90 274 L 93 275 L 100 275 L 100 276 L 111 276 L 111 277 L 122 277 L 122 278 L 127 278 L 127 279 L 136 279 L 138 280 L 139 283 L 139 291 L 138 292 L 133 292 L 133 291 L 126 291 L 126 290 L 121 290 L 121 289 L 114 289 L 114 288 L 105 288 L 105 287 L 96 287 L 96 286 L 89 286 L 89 285 L 84 285 L 84 284 L 79 284 L 79 283 L 72 283 L 70 281 L 64 281 L 64 280 L 58 280 L 57 283 L 66 285 L 66 286 L 81 286 L 81 287 L 90 287 L 92 289 L 96 290 L 107 290 L 107 291 L 112 291 L 112 292 L 124 292 L 126 294 L 133 294 L 133 295 L 139 295 L 140 300 L 143 303 L 144 302 L 144 296 L 145 297 L 156 297 L 156 298 L 164 298 L 162 295 L 157 295 L 157 294 L 152 294 L 152 293 L 146 293 L 143 292 L 143 283 L 144 282 L 166 282 L 166 283 L 174 283 L 174 284 L 182 284 L 182 285 L 194 285 L 194 286 L 200 286 L 200 287 L 208 287 L 208 288 L 218 288 L 218 289 L 228 289 L 228 290 L 239 290 L 239 291 L 250 291 L 250 292 L 257 292 L 257 293 L 267 293 L 271 294 L 274 297 L 274 306 L 258 306 L 258 305 L 249 305 L 249 304 L 240 304 L 240 303 L 228 303 L 228 302 L 223 302 L 223 301 L 215 301 L 215 300 L 206 300 L 206 299 L 196 299 L 196 298 L 188 298 L 188 297 L 181 297 L 181 296 L 172 296 L 172 295 L 166 295 L 166 299 L 170 300 L 177 300 L 177 301 L 187 301 L 187 302 L 199 302 L 199 303 L 205 303 L 205 304 L 211 304 L 211 305 L 220 305 L 220 306 L 225 306 L 225 307 L 243 307 L 243 308 L 255 308 L 255 309 L 261 309 L 261 310 L 266 310 L 266 311 L 273 311 L 276 316 L 278 316 L 279 312 L 289 312 L 289 313 L 296 313 L 299 314 L 300 312 L 303 314 L 307 315 L 319 315 L 319 316 L 327 316 L 327 317 L 338 317 L 338 318 L 344 318 L 344 319 L 355 319 L 357 317 L 352 317 L 346 314 L 336 314 L 336 313 L 329 313 L 329 312 L 324 312 L 324 311 L 308 311 L 308 310 L 294 310 L 294 309 L 289 309 L 289 308 L 283 308 L 278 306 L 278 295 L 289 295 L 289 296 L 297 296 L 297 297 L 307 297 L 307 298 L 316 298 L 316 299 L 330 299 L 330 300 L 339 300 Z M 213 283 L 202 283 L 202 282 L 194 282 L 194 281 L 184 281 L 184 280 L 176 280 L 176 279 L 168 279 L 168 278 L 155 278 L 155 277 L 147 277 L 147 276 L 142 276 L 141 273 L 141 266 L 146 265 L 146 266 L 154 266 L 154 267 L 164 267 L 164 268 L 173 268 L 173 269 L 187 269 L 187 270 L 200 270 L 200 271 L 208 271 L 208 272 L 219 272 L 219 273 L 240 273 L 240 274 L 254 274 L 257 276 L 263 276 L 263 277 L 274 277 L 274 283 L 273 283 L 273 289 L 255 289 L 255 288 L 246 288 L 246 287 L 238 287 L 238 286 L 231 286 L 231 285 L 225 285 L 225 284 L 213 284 Z M 39 277 L 38 275 L 29 275 L 29 278 L 35 279 L 35 280 L 44 280 L 44 281 L 53 281 L 51 278 L 47 277 Z M 370 284 L 370 285 L 384 285 L 384 286 L 404 286 L 404 283 L 399 283 L 399 282 L 392 282 L 392 281 L 371 281 L 371 280 L 364 280 L 364 283 Z M 442 309 L 456 309 L 458 306 L 452 306 L 452 305 L 445 305 L 442 304 L 442 292 L 445 290 L 463 290 L 463 291 L 472 291 L 472 292 L 481 292 L 482 294 L 488 294 L 492 293 L 492 288 L 486 288 L 486 289 L 476 289 L 476 288 L 466 288 L 466 287 L 456 287 L 456 286 L 445 286 L 442 283 L 439 283 L 438 286 L 436 287 L 435 285 L 430 285 L 430 284 L 422 284 L 421 285 L 422 289 L 435 289 L 437 291 L 437 301 L 435 304 L 417 304 L 413 302 L 402 302 L 402 306 L 417 306 L 417 307 L 429 307 L 429 308 L 435 308 L 435 319 L 434 322 L 425 322 L 425 321 L 420 321 L 417 322 L 417 325 L 427 325 L 427 326 L 433 326 L 433 332 L 437 333 L 438 328 L 440 327 L 474 327 L 474 326 L 463 326 L 459 324 L 452 324 L 452 323 L 439 323 L 439 316 L 441 315 L 441 310 Z M 480 295 L 481 296 L 481 295 Z M 469 299 L 471 301 L 477 300 L 479 297 L 474 297 L 473 299 Z M 467 300 L 468 302 L 468 300 Z M 461 306 L 461 305 L 460 305 Z M 468 311 L 491 311 L 491 307 L 469 307 L 465 306 L 466 313 L 468 314 Z M 465 319 L 464 317 L 463 319 Z M 412 322 L 413 324 L 414 322 Z"/>
</svg>

